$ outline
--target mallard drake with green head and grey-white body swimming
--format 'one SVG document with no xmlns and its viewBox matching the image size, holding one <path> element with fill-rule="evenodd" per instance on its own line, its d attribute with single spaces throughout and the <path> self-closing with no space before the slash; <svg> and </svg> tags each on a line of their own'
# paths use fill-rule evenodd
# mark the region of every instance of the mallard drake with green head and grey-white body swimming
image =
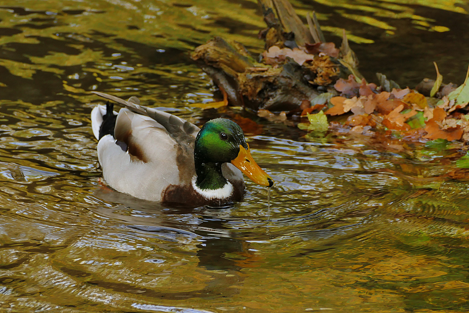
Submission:
<svg viewBox="0 0 469 313">
<path fill-rule="evenodd" d="M 106 183 L 136 198 L 186 204 L 223 206 L 242 199 L 242 173 L 272 187 L 272 178 L 251 156 L 241 127 L 217 118 L 202 129 L 180 117 L 140 106 L 103 92 L 109 101 L 91 111 L 98 139 L 98 160 Z"/>
</svg>

